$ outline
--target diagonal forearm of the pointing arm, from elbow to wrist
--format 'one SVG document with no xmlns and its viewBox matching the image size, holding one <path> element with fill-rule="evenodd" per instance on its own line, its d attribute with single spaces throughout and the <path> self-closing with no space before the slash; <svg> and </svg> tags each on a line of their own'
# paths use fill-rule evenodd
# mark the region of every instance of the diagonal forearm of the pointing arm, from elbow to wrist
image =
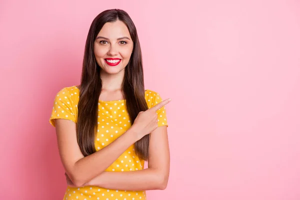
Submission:
<svg viewBox="0 0 300 200">
<path fill-rule="evenodd" d="M 81 186 L 103 172 L 115 161 L 131 144 L 135 142 L 133 129 L 128 129 L 113 142 L 85 156 L 72 167 L 70 177 L 76 186 Z"/>
</svg>

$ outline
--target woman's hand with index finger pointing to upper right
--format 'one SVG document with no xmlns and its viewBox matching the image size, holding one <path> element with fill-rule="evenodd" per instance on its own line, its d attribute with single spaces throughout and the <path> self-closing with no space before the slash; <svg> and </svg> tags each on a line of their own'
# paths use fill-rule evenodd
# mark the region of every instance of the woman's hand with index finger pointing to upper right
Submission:
<svg viewBox="0 0 300 200">
<path fill-rule="evenodd" d="M 146 111 L 140 111 L 136 118 L 134 119 L 134 122 L 131 126 L 131 128 L 134 130 L 134 132 L 137 134 L 137 140 L 142 138 L 144 135 L 149 134 L 152 132 L 155 128 L 157 128 L 157 113 L 156 111 L 163 107 L 165 104 L 170 102 L 171 99 L 165 99 L 155 106 L 147 109 Z"/>
</svg>

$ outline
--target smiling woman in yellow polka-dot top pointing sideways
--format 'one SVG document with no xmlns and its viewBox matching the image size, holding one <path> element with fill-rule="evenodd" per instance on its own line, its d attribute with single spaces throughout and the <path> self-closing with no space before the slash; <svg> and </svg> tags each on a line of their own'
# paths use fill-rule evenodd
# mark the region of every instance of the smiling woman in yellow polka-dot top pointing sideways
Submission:
<svg viewBox="0 0 300 200">
<path fill-rule="evenodd" d="M 63 199 L 146 199 L 169 175 L 162 100 L 144 89 L 136 28 L 120 9 L 101 12 L 86 39 L 80 85 L 55 96 L 50 123 L 68 186 Z M 148 160 L 148 168 L 143 169 Z"/>
</svg>

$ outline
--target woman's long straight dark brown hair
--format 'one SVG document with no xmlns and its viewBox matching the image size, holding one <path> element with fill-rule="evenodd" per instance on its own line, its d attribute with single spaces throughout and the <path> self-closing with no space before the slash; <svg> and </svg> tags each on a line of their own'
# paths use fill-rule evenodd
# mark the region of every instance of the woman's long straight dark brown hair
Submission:
<svg viewBox="0 0 300 200">
<path fill-rule="evenodd" d="M 80 94 L 77 117 L 77 142 L 84 156 L 96 152 L 94 146 L 97 129 L 98 99 L 102 88 L 100 79 L 100 66 L 94 57 L 94 41 L 100 29 L 106 22 L 120 20 L 127 25 L 133 50 L 128 64 L 125 67 L 122 81 L 122 94 L 126 99 L 125 107 L 132 125 L 139 111 L 148 109 L 145 100 L 144 80 L 141 49 L 135 25 L 127 12 L 121 9 L 108 9 L 99 13 L 92 21 L 84 49 L 82 73 L 80 81 Z M 148 159 L 149 135 L 145 135 L 134 143 L 139 158 Z"/>
</svg>

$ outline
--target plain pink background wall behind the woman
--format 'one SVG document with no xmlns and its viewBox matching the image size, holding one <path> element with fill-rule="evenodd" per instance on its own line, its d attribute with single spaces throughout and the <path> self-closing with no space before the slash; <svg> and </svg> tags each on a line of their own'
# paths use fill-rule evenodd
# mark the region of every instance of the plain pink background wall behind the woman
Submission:
<svg viewBox="0 0 300 200">
<path fill-rule="evenodd" d="M 108 8 L 137 27 L 146 88 L 172 98 L 169 183 L 148 199 L 300 199 L 297 0 L 1 0 L 0 199 L 62 199 L 48 118 Z"/>
</svg>

